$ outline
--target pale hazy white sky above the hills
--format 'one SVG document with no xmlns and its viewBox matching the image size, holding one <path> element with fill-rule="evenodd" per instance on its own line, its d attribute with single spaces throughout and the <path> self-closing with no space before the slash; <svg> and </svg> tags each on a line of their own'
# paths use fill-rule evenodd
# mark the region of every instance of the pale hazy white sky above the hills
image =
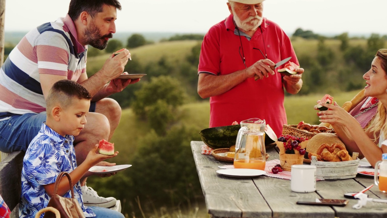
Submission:
<svg viewBox="0 0 387 218">
<path fill-rule="evenodd" d="M 5 31 L 29 31 L 67 13 L 70 0 L 6 0 Z M 229 15 L 226 0 L 120 0 L 119 32 L 205 33 Z M 264 16 L 286 33 L 387 34 L 387 0 L 266 0 Z"/>
</svg>

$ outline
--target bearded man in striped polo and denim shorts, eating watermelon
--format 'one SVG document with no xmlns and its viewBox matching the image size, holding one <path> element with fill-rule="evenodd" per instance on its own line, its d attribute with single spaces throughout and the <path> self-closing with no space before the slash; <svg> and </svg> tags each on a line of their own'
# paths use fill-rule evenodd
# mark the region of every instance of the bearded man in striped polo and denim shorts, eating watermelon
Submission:
<svg viewBox="0 0 387 218">
<path fill-rule="evenodd" d="M 113 37 L 116 9 L 121 10 L 118 0 L 71 0 L 65 17 L 31 30 L 12 50 L 0 69 L 0 151 L 26 151 L 46 121 L 45 98 L 51 86 L 62 79 L 82 84 L 92 95 L 87 124 L 74 140 L 77 163 L 84 161 L 99 140 L 110 140 L 120 121 L 121 107 L 106 97 L 139 79 L 116 79 L 130 58 L 128 50 L 110 55 L 90 78 L 86 59 L 87 45 L 102 50 Z M 86 187 L 86 180 L 81 184 L 86 205 L 115 204 L 114 198 L 99 197 Z"/>
</svg>

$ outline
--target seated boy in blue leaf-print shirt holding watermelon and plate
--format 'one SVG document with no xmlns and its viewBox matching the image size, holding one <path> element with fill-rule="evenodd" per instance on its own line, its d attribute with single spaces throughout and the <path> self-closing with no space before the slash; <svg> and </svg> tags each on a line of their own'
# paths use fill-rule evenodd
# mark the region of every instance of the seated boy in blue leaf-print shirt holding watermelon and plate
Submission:
<svg viewBox="0 0 387 218">
<path fill-rule="evenodd" d="M 43 122 L 38 135 L 29 145 L 23 159 L 22 193 L 19 204 L 21 218 L 34 218 L 35 214 L 47 206 L 53 195 L 55 181 L 60 172 L 68 172 L 74 187 L 68 179 L 60 179 L 58 195 L 74 197 L 78 200 L 86 217 L 123 218 L 121 213 L 107 208 L 86 207 L 82 200 L 80 182 L 82 178 L 92 175 L 88 170 L 114 155 L 97 153 L 98 144 L 92 149 L 85 161 L 77 166 L 74 150 L 74 136 L 77 136 L 86 124 L 91 95 L 79 83 L 71 80 L 57 81 L 46 99 L 47 121 Z M 43 215 L 40 216 L 43 218 Z"/>
</svg>

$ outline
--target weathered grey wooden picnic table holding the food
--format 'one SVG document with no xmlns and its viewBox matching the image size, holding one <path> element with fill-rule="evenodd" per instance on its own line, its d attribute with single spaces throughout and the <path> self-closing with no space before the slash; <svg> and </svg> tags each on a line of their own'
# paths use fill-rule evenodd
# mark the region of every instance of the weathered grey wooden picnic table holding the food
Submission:
<svg viewBox="0 0 387 218">
<path fill-rule="evenodd" d="M 316 183 L 316 191 L 297 193 L 290 189 L 290 180 L 257 176 L 254 178 L 231 178 L 216 173 L 218 166 L 231 165 L 230 162 L 216 160 L 212 155 L 201 154 L 201 141 L 192 141 L 191 148 L 205 197 L 207 211 L 212 217 L 246 218 L 381 218 L 387 217 L 387 204 L 367 202 L 361 209 L 353 209 L 356 199 L 348 199 L 349 204 L 339 206 L 298 205 L 300 197 L 346 199 L 344 193 L 358 192 L 373 184 L 373 178 L 356 176 L 344 180 L 321 180 Z M 279 159 L 276 148 L 266 151 L 269 160 Z M 387 199 L 374 185 L 366 192 L 369 197 Z"/>
</svg>

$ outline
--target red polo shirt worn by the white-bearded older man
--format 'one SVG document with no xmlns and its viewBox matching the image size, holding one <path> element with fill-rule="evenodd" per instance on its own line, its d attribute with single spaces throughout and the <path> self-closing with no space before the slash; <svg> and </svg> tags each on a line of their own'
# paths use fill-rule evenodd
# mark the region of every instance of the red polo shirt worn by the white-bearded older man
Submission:
<svg viewBox="0 0 387 218">
<path fill-rule="evenodd" d="M 261 28 L 262 33 L 258 28 L 250 41 L 241 36 L 240 42 L 239 36 L 234 34 L 233 15 L 212 26 L 204 36 L 198 72 L 225 75 L 245 69 L 240 55 L 241 44 L 247 67 L 264 59 L 259 50 L 253 48 L 259 48 L 265 54 L 265 47 L 267 58 L 274 63 L 291 56 L 290 61 L 299 65 L 289 37 L 276 23 L 264 18 Z M 258 81 L 248 78 L 228 92 L 210 97 L 210 127 L 260 118 L 266 120 L 277 136 L 281 135 L 287 121 L 282 77 L 277 69 L 274 76 Z"/>
</svg>

